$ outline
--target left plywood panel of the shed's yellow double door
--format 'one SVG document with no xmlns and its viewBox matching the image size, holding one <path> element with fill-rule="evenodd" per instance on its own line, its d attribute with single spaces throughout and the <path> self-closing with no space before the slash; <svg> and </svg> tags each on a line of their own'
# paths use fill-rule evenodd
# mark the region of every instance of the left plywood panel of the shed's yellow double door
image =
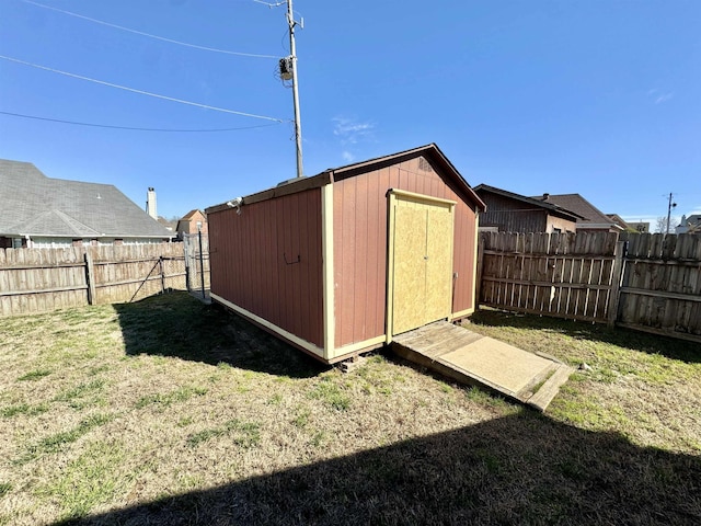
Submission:
<svg viewBox="0 0 701 526">
<path fill-rule="evenodd" d="M 426 210 L 394 211 L 394 333 L 423 324 L 426 294 Z"/>
</svg>

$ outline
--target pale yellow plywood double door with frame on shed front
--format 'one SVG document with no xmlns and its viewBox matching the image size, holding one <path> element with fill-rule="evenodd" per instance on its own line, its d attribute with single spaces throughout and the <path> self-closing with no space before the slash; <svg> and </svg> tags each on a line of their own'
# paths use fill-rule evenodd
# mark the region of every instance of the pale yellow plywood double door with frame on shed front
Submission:
<svg viewBox="0 0 701 526">
<path fill-rule="evenodd" d="M 388 333 L 450 316 L 455 203 L 390 194 Z"/>
</svg>

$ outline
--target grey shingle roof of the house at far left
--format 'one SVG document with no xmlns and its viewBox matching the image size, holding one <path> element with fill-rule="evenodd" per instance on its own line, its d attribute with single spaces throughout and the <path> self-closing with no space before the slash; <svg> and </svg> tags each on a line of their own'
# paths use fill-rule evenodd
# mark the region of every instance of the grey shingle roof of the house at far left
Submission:
<svg viewBox="0 0 701 526">
<path fill-rule="evenodd" d="M 0 159 L 0 236 L 168 238 L 163 226 L 112 184 L 50 179 Z"/>
</svg>

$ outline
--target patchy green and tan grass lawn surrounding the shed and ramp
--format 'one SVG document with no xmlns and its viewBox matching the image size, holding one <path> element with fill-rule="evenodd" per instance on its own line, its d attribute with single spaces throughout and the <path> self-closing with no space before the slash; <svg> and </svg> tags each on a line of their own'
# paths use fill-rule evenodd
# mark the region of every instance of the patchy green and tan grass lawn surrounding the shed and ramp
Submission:
<svg viewBox="0 0 701 526">
<path fill-rule="evenodd" d="M 482 311 L 545 414 L 319 365 L 184 293 L 0 320 L 0 525 L 701 524 L 698 344 Z"/>
</svg>

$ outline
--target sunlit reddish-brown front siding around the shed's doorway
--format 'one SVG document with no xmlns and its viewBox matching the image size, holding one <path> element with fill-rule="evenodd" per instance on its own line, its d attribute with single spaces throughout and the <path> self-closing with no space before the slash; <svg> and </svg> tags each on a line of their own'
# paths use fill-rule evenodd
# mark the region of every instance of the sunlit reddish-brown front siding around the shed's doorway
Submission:
<svg viewBox="0 0 701 526">
<path fill-rule="evenodd" d="M 475 213 L 423 157 L 341 179 L 334 185 L 335 346 L 384 334 L 387 192 L 456 201 L 453 312 L 474 308 Z"/>
</svg>

